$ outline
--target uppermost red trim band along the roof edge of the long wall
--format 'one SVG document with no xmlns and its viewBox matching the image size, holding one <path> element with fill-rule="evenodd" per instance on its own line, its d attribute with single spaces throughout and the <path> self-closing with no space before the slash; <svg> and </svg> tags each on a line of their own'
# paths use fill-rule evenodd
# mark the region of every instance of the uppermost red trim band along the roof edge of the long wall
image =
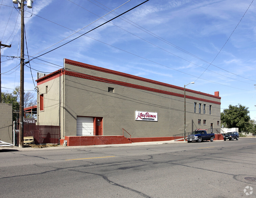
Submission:
<svg viewBox="0 0 256 198">
<path fill-rule="evenodd" d="M 70 65 L 75 65 L 75 66 L 78 66 L 78 67 L 84 67 L 84 68 L 87 68 L 87 69 L 101 71 L 101 72 L 105 72 L 105 73 L 111 73 L 111 74 L 114 74 L 114 75 L 124 76 L 124 77 L 132 78 L 132 79 L 135 79 L 135 80 L 141 80 L 141 81 L 144 81 L 144 82 L 147 82 L 147 83 L 161 85 L 161 86 L 165 86 L 165 87 L 169 87 L 169 88 L 173 88 L 173 89 L 184 90 L 183 87 L 169 85 L 169 84 L 166 84 L 166 83 L 161 83 L 159 81 L 150 80 L 150 79 L 142 78 L 142 77 L 139 77 L 139 76 L 134 76 L 134 75 L 122 73 L 122 72 L 119 72 L 119 71 L 114 71 L 114 70 L 111 70 L 111 69 L 106 69 L 106 68 L 103 68 L 103 67 L 97 67 L 97 66 L 94 66 L 94 65 L 86 64 L 86 63 L 80 63 L 80 62 L 72 61 L 72 60 L 69 60 L 69 59 L 65 59 L 65 63 L 66 64 L 70 64 Z M 211 95 L 211 94 L 194 91 L 194 90 L 191 90 L 191 89 L 186 89 L 186 92 L 191 92 L 191 93 L 195 93 L 195 94 L 209 96 L 209 97 L 212 97 L 212 98 L 221 99 L 221 97 L 219 97 L 219 96 L 214 96 L 214 95 Z"/>
</svg>

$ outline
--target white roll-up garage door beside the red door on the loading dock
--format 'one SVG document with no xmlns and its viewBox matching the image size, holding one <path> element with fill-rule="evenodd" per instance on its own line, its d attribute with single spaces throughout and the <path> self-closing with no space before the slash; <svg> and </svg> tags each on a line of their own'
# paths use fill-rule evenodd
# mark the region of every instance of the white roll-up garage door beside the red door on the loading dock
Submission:
<svg viewBox="0 0 256 198">
<path fill-rule="evenodd" d="M 93 117 L 77 116 L 76 135 L 93 135 Z"/>
</svg>

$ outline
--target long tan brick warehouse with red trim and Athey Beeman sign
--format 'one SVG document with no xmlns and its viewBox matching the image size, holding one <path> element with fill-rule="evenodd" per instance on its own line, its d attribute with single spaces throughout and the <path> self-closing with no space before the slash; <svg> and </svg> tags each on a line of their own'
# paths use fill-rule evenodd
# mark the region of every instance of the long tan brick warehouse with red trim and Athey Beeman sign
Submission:
<svg viewBox="0 0 256 198">
<path fill-rule="evenodd" d="M 64 69 L 37 81 L 38 124 L 77 135 L 171 137 L 184 133 L 184 88 L 64 59 Z M 186 131 L 220 128 L 220 97 L 186 89 Z M 136 120 L 136 112 L 157 121 Z M 81 124 L 81 125 L 80 125 Z"/>
</svg>

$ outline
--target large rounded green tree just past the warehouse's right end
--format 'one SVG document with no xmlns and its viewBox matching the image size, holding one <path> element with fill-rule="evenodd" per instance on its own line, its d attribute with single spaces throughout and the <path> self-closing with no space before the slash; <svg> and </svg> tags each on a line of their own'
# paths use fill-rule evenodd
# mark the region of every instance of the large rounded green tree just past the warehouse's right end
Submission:
<svg viewBox="0 0 256 198">
<path fill-rule="evenodd" d="M 220 113 L 220 120 L 222 124 L 227 128 L 238 128 L 239 132 L 246 131 L 248 132 L 252 129 L 252 123 L 250 122 L 250 111 L 249 107 L 238 105 L 229 105 L 228 109 L 224 109 Z"/>
</svg>

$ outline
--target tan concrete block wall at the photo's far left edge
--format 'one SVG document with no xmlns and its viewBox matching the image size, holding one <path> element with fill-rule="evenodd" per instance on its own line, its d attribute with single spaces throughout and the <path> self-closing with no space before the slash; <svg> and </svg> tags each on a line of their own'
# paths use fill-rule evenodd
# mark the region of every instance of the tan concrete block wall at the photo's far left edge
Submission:
<svg viewBox="0 0 256 198">
<path fill-rule="evenodd" d="M 0 103 L 0 139 L 13 143 L 13 105 Z"/>
</svg>

